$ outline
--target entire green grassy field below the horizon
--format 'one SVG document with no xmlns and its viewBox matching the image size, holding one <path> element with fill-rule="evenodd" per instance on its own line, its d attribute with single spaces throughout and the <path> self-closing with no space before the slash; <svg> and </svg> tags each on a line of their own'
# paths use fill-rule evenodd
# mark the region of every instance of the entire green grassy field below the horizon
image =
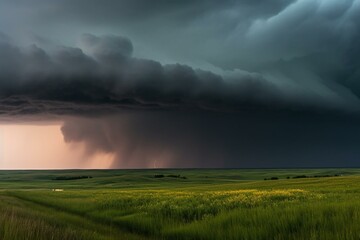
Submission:
<svg viewBox="0 0 360 240">
<path fill-rule="evenodd" d="M 360 239 L 360 169 L 0 171 L 0 239 Z"/>
</svg>

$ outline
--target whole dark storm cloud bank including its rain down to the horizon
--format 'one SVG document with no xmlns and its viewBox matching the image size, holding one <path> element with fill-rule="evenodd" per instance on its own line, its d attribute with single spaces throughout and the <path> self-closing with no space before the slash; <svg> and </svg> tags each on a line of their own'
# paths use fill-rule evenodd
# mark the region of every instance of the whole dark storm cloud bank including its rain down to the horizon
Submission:
<svg viewBox="0 0 360 240">
<path fill-rule="evenodd" d="M 275 85 L 271 75 L 134 58 L 124 37 L 85 34 L 80 45 L 46 52 L 3 37 L 3 119 L 60 118 L 66 142 L 114 154 L 113 167 L 335 166 L 338 159 L 350 166 L 359 157 L 357 86 L 322 82 L 314 58 L 275 68 L 295 65 L 287 77 L 303 74 L 327 95 Z"/>
</svg>

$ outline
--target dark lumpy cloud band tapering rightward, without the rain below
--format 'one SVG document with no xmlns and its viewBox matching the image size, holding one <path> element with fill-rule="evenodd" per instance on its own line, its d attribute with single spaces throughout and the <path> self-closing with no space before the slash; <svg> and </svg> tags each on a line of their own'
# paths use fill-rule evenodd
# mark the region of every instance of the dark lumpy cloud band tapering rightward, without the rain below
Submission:
<svg viewBox="0 0 360 240">
<path fill-rule="evenodd" d="M 2 42 L 2 113 L 79 114 L 90 109 L 92 114 L 96 109 L 126 107 L 213 111 L 261 106 L 334 108 L 326 103 L 331 99 L 308 102 L 305 92 L 302 97 L 291 96 L 259 74 L 234 71 L 221 76 L 186 65 L 133 58 L 133 46 L 124 37 L 85 34 L 81 45 L 86 53 L 62 46 L 49 54 L 36 45 L 21 49 Z M 79 112 L 79 108 L 84 110 Z"/>
</svg>

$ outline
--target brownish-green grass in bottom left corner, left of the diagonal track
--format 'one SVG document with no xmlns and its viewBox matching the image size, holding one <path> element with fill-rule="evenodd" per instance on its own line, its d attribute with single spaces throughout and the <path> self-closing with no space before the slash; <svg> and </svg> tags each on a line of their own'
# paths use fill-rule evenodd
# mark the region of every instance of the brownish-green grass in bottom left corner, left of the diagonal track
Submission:
<svg viewBox="0 0 360 240">
<path fill-rule="evenodd" d="M 0 194 L 1 240 L 143 239 L 83 217 Z"/>
</svg>

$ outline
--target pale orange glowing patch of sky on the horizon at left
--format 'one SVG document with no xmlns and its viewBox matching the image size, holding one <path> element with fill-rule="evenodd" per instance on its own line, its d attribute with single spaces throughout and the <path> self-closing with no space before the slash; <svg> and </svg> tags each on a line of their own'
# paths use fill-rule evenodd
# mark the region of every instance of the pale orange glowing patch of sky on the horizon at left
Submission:
<svg viewBox="0 0 360 240">
<path fill-rule="evenodd" d="M 80 143 L 67 144 L 61 123 L 0 125 L 0 169 L 109 168 L 112 154 L 85 154 Z"/>
</svg>

